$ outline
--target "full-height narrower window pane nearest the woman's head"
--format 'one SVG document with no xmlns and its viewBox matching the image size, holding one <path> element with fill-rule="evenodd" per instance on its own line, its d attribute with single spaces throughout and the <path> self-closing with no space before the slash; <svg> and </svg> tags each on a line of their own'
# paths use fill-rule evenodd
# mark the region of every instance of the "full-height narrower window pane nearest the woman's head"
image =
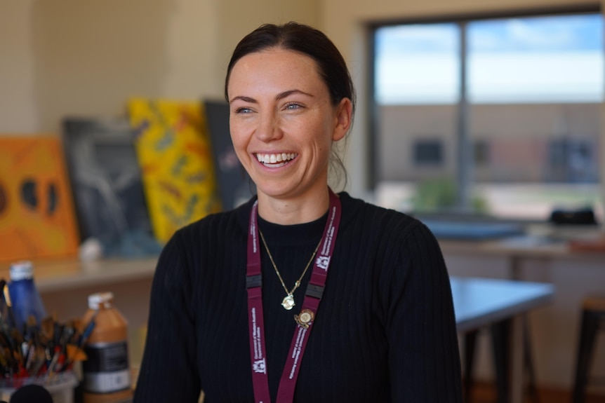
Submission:
<svg viewBox="0 0 605 403">
<path fill-rule="evenodd" d="M 456 172 L 458 25 L 383 27 L 375 52 L 377 202 L 399 210 L 453 203 L 442 191 L 451 186 L 434 183 L 452 184 Z"/>
</svg>

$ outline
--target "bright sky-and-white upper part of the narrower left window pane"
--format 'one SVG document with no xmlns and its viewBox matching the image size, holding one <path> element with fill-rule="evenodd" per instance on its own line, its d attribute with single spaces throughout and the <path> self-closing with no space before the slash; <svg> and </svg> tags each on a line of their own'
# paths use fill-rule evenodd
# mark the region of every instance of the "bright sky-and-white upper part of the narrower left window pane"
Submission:
<svg viewBox="0 0 605 403">
<path fill-rule="evenodd" d="M 458 27 L 399 25 L 375 33 L 375 100 L 378 104 L 458 102 Z"/>
</svg>

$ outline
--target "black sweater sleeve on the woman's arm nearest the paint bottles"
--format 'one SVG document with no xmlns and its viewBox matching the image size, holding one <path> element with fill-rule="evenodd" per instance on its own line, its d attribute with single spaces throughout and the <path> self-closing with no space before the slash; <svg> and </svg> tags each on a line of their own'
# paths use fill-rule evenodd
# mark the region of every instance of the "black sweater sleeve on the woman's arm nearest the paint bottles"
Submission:
<svg viewBox="0 0 605 403">
<path fill-rule="evenodd" d="M 154 275 L 135 403 L 199 398 L 192 279 L 179 236 L 175 233 L 164 247 Z"/>
</svg>

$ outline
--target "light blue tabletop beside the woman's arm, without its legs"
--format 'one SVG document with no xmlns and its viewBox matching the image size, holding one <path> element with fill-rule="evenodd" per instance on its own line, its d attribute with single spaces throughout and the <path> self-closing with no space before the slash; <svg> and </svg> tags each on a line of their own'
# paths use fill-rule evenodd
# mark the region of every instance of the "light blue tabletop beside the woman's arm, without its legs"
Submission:
<svg viewBox="0 0 605 403">
<path fill-rule="evenodd" d="M 554 286 L 541 282 L 451 278 L 458 332 L 484 327 L 545 305 Z"/>
</svg>

